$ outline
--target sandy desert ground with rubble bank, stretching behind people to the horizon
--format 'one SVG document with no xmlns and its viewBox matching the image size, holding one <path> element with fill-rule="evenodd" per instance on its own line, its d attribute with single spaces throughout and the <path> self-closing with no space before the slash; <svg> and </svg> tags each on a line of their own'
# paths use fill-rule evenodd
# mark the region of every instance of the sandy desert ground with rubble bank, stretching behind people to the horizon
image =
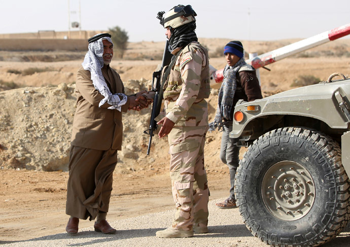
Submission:
<svg viewBox="0 0 350 247">
<path fill-rule="evenodd" d="M 217 52 L 227 39 L 200 39 L 217 69 L 225 58 Z M 250 52 L 264 52 L 290 44 L 284 41 L 243 41 Z M 130 43 L 123 59 L 111 66 L 120 74 L 127 93 L 148 88 L 161 62 L 164 43 Z M 64 232 L 67 161 L 75 111 L 74 83 L 85 52 L 0 51 L 0 243 Z M 299 76 L 326 81 L 334 72 L 350 76 L 350 40 L 333 41 L 277 61 L 260 70 L 264 96 L 289 90 Z M 26 69 L 36 73 L 25 75 Z M 18 71 L 19 73 L 15 73 Z M 209 122 L 217 91 L 213 86 Z M 114 172 L 108 219 L 119 220 L 173 208 L 168 176 L 167 140 L 153 138 L 146 155 L 150 109 L 123 115 L 123 151 Z M 219 158 L 221 133 L 207 134 L 205 162 L 211 200 L 228 196 L 228 168 Z M 241 148 L 241 156 L 245 148 Z M 118 154 L 119 155 L 119 154 Z M 81 221 L 80 227 L 92 226 Z M 210 224 L 210 223 L 209 223 Z M 346 235 L 348 239 L 349 235 Z M 234 246 L 232 244 L 232 246 Z M 342 245 L 343 246 L 343 245 Z M 345 245 L 344 245 L 345 246 Z"/>
</svg>

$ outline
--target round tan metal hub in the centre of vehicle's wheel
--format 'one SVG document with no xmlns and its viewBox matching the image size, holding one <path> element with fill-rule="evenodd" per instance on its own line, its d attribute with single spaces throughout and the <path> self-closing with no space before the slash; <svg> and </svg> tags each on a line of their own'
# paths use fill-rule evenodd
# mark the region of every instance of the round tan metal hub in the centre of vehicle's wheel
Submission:
<svg viewBox="0 0 350 247">
<path fill-rule="evenodd" d="M 304 217 L 315 198 L 310 173 L 294 161 L 281 161 L 272 165 L 264 175 L 261 193 L 271 214 L 285 221 Z"/>
</svg>

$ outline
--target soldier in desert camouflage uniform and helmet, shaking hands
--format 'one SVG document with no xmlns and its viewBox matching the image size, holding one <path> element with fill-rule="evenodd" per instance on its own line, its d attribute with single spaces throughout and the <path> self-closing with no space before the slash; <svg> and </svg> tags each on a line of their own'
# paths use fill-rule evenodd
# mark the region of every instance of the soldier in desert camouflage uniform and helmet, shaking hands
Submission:
<svg viewBox="0 0 350 247">
<path fill-rule="evenodd" d="M 176 55 L 163 86 L 164 114 L 159 138 L 168 135 L 170 178 L 176 215 L 172 227 L 158 237 L 190 237 L 206 233 L 208 196 L 204 169 L 204 141 L 208 130 L 205 98 L 210 94 L 208 52 L 197 41 L 196 13 L 190 5 L 178 5 L 158 13 L 166 28 L 169 51 Z"/>
</svg>

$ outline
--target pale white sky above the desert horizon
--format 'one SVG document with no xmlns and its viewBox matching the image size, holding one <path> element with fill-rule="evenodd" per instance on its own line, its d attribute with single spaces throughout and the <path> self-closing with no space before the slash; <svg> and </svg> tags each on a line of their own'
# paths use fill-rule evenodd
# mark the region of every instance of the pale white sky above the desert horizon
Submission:
<svg viewBox="0 0 350 247">
<path fill-rule="evenodd" d="M 79 22 L 80 2 L 82 30 L 118 25 L 130 42 L 165 40 L 157 13 L 178 4 L 196 11 L 199 38 L 308 38 L 350 23 L 349 0 L 0 0 L 0 33 L 67 31 L 68 2 L 71 22 Z"/>
</svg>

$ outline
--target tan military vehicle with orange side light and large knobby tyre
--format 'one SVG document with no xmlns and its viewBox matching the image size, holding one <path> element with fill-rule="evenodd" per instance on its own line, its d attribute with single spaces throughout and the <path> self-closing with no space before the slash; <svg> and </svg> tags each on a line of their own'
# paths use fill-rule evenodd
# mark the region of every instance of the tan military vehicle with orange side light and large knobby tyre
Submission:
<svg viewBox="0 0 350 247">
<path fill-rule="evenodd" d="M 350 79 L 335 73 L 327 82 L 237 102 L 230 137 L 248 149 L 234 191 L 244 223 L 265 243 L 317 246 L 347 225 L 349 97 Z"/>
</svg>

